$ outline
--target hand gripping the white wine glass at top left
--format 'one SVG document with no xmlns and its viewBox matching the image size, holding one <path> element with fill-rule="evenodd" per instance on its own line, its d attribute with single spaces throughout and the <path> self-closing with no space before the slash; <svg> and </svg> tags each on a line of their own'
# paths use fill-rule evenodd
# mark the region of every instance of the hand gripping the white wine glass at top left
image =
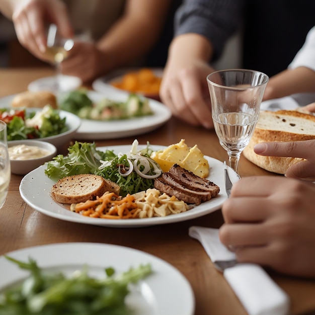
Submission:
<svg viewBox="0 0 315 315">
<path fill-rule="evenodd" d="M 45 58 L 46 25 L 57 25 L 63 37 L 72 37 L 65 4 L 60 0 L 18 0 L 13 2 L 12 21 L 19 42 L 40 59 Z"/>
</svg>

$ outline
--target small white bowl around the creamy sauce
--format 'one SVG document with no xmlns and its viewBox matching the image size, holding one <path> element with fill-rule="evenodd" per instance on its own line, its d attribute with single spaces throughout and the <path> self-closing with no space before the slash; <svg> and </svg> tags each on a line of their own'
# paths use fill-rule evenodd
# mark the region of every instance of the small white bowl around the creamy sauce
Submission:
<svg viewBox="0 0 315 315">
<path fill-rule="evenodd" d="M 54 156 L 57 154 L 57 148 L 45 141 L 39 141 L 39 140 L 13 140 L 9 141 L 8 147 L 12 147 L 14 145 L 30 145 L 30 146 L 37 146 L 42 149 L 48 150 L 49 154 L 45 155 L 43 157 L 37 157 L 36 159 L 30 159 L 30 160 L 12 160 L 10 159 L 11 164 L 11 173 L 17 174 L 17 175 L 25 175 L 29 172 L 35 170 L 39 166 L 43 165 L 45 162 L 51 161 Z"/>
</svg>

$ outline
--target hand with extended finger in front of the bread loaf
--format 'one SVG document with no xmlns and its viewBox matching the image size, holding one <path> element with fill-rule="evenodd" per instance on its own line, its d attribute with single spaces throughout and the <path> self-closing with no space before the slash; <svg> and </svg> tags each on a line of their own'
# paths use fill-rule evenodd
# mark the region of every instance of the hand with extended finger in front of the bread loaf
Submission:
<svg viewBox="0 0 315 315">
<path fill-rule="evenodd" d="M 290 142 L 261 142 L 254 146 L 256 154 L 291 156 L 305 159 L 289 167 L 286 177 L 315 181 L 315 139 Z"/>
</svg>

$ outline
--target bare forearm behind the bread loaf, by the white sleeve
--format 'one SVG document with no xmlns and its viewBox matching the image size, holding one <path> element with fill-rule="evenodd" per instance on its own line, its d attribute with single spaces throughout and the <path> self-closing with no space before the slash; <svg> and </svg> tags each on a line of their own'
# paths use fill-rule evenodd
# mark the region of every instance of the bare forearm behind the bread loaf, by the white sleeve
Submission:
<svg viewBox="0 0 315 315">
<path fill-rule="evenodd" d="M 264 100 L 308 92 L 315 92 L 315 71 L 301 66 L 295 69 L 286 69 L 271 77 Z"/>
</svg>

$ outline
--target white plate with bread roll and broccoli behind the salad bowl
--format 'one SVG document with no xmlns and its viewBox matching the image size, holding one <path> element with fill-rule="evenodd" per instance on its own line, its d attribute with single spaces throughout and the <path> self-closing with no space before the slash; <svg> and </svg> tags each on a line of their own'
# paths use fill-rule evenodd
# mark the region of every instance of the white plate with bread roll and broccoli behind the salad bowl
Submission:
<svg viewBox="0 0 315 315">
<path fill-rule="evenodd" d="M 76 128 L 76 134 L 83 140 L 112 139 L 149 132 L 162 126 L 172 116 L 171 111 L 160 102 L 114 89 L 106 93 L 76 90 L 57 96 L 44 91 L 25 92 L 0 99 L 0 108 L 14 104 L 15 108 L 31 111 L 32 105 L 42 108 L 50 104 L 60 109 L 61 103 L 67 109 L 60 111 L 62 117 L 73 116 L 73 112 L 77 111 L 76 120 L 80 121 L 77 116 L 80 111 L 81 124 Z"/>
</svg>

